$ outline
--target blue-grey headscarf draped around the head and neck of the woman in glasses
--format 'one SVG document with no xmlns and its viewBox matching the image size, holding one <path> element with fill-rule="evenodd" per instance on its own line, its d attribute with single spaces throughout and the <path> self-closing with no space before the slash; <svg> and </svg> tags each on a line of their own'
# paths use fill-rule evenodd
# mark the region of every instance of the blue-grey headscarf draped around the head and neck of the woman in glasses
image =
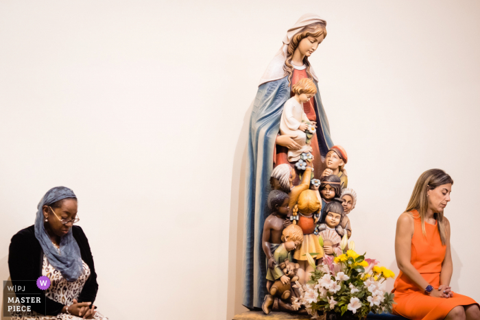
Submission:
<svg viewBox="0 0 480 320">
<path fill-rule="evenodd" d="M 60 253 L 58 249 L 53 246 L 51 239 L 43 225 L 43 206 L 49 206 L 56 201 L 65 198 L 75 198 L 77 196 L 67 187 L 56 186 L 45 193 L 38 204 L 38 211 L 35 219 L 35 237 L 40 242 L 43 249 L 43 254 L 47 256 L 50 264 L 62 273 L 63 278 L 67 281 L 75 281 L 82 273 L 82 256 L 80 255 L 80 248 L 77 241 L 73 238 L 72 229 L 60 238 Z"/>
</svg>

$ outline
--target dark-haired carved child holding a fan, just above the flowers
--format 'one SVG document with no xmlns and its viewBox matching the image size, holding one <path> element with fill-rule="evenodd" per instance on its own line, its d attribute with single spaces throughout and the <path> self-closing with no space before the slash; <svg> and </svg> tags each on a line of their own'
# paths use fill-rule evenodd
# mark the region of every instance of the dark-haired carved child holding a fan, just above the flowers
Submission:
<svg viewBox="0 0 480 320">
<path fill-rule="evenodd" d="M 326 205 L 325 219 L 317 227 L 318 236 L 323 239 L 324 252 L 330 256 L 341 255 L 340 241 L 345 234 L 344 228 L 340 225 L 345 215 L 341 202 L 341 199 L 334 198 Z"/>
</svg>

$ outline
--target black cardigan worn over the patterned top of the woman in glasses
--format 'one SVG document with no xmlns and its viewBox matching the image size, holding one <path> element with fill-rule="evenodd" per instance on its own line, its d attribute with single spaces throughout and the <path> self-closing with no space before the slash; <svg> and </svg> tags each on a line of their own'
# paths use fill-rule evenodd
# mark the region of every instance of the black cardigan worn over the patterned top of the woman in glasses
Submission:
<svg viewBox="0 0 480 320">
<path fill-rule="evenodd" d="M 92 302 L 95 301 L 97 296 L 98 284 L 97 273 L 95 273 L 95 267 L 93 266 L 93 256 L 88 245 L 88 240 L 81 227 L 73 225 L 72 227 L 73 238 L 80 247 L 80 254 L 82 260 L 88 267 L 90 267 L 90 277 L 86 281 L 78 302 Z M 37 286 L 36 282 L 16 282 L 16 280 L 37 280 L 42 275 L 43 267 L 43 250 L 35 237 L 35 229 L 33 225 L 20 230 L 12 237 L 10 248 L 8 249 L 8 269 L 10 269 L 10 278 L 12 284 L 19 286 L 26 286 L 27 293 L 43 293 Z M 25 306 L 31 306 L 32 310 L 44 315 L 58 315 L 62 311 L 64 304 L 60 304 L 57 301 L 47 298 L 46 309 L 43 305 L 39 304 L 27 304 Z"/>
</svg>

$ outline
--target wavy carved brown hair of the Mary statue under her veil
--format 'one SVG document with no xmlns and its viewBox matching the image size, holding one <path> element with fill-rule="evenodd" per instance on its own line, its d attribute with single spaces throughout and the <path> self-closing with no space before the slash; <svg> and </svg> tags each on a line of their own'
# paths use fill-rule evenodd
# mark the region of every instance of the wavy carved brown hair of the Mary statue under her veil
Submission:
<svg viewBox="0 0 480 320">
<path fill-rule="evenodd" d="M 326 21 L 322 20 L 322 22 L 312 23 L 303 29 L 302 32 L 299 32 L 291 39 L 288 48 L 287 48 L 287 60 L 285 60 L 285 65 L 283 66 L 283 70 L 285 70 L 285 75 L 288 75 L 288 84 L 290 86 L 291 76 L 293 75 L 293 66 L 291 65 L 291 58 L 293 58 L 293 52 L 297 49 L 298 44 L 303 38 L 307 38 L 309 36 L 313 36 L 317 38 L 319 36 L 324 35 L 326 37 Z M 310 73 L 310 62 L 307 56 L 303 58 L 303 63 L 307 66 L 307 75 L 309 78 L 312 78 Z"/>
</svg>

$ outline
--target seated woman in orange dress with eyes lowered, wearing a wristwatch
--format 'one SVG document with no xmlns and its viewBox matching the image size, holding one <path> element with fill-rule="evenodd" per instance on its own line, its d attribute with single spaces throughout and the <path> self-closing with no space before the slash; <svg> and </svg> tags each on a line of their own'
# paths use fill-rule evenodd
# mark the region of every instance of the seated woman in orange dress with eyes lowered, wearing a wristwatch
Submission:
<svg viewBox="0 0 480 320">
<path fill-rule="evenodd" d="M 394 313 L 412 320 L 480 319 L 477 302 L 451 291 L 450 223 L 444 208 L 453 180 L 440 169 L 418 178 L 396 226 Z"/>
</svg>

